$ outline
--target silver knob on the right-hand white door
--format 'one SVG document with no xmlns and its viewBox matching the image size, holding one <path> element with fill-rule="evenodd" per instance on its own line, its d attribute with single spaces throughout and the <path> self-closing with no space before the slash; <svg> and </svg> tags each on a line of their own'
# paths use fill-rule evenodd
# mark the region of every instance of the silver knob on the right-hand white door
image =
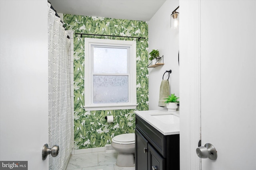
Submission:
<svg viewBox="0 0 256 170">
<path fill-rule="evenodd" d="M 217 159 L 217 151 L 210 143 L 206 143 L 204 147 L 198 147 L 196 149 L 196 154 L 199 158 L 209 158 L 210 160 Z"/>
</svg>

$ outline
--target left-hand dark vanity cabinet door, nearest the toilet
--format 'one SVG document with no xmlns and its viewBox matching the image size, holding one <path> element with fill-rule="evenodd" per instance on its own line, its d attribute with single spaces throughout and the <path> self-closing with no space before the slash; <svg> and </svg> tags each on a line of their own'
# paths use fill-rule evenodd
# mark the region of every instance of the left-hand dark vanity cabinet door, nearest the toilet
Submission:
<svg viewBox="0 0 256 170">
<path fill-rule="evenodd" d="M 135 169 L 148 170 L 148 141 L 135 129 Z"/>
</svg>

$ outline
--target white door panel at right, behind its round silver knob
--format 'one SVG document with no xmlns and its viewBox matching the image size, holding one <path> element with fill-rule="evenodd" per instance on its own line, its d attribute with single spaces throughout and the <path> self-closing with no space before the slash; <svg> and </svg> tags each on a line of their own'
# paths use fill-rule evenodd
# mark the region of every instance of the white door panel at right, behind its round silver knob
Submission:
<svg viewBox="0 0 256 170">
<path fill-rule="evenodd" d="M 218 154 L 202 170 L 256 170 L 256 1 L 202 0 L 200 16 L 201 139 Z"/>
</svg>

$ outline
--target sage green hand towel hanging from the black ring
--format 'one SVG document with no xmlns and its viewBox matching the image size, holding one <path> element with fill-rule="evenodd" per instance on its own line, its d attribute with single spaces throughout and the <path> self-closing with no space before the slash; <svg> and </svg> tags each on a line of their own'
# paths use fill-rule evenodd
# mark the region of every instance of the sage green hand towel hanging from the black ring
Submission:
<svg viewBox="0 0 256 170">
<path fill-rule="evenodd" d="M 160 107 L 166 107 L 166 103 L 164 103 L 166 100 L 165 98 L 168 98 L 170 95 L 170 90 L 169 90 L 169 81 L 168 80 L 162 80 L 161 85 L 160 85 L 160 93 L 159 93 L 159 102 L 158 106 Z"/>
</svg>

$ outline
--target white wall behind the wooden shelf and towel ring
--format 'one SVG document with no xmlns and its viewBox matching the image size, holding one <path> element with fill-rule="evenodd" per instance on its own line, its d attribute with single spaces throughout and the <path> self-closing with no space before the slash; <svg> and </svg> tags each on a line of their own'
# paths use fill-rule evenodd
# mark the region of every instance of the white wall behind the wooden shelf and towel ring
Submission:
<svg viewBox="0 0 256 170">
<path fill-rule="evenodd" d="M 166 70 L 172 70 L 170 74 L 170 93 L 179 97 L 179 31 L 170 28 L 170 16 L 172 11 L 179 6 L 178 0 L 166 0 L 162 7 L 148 22 L 149 53 L 152 49 L 158 49 L 160 56 L 164 55 L 164 65 L 148 68 L 149 72 L 149 110 L 166 109 L 158 106 L 159 89 L 163 74 Z M 179 10 L 177 10 L 179 12 Z M 164 79 L 168 74 L 164 75 Z"/>
</svg>

